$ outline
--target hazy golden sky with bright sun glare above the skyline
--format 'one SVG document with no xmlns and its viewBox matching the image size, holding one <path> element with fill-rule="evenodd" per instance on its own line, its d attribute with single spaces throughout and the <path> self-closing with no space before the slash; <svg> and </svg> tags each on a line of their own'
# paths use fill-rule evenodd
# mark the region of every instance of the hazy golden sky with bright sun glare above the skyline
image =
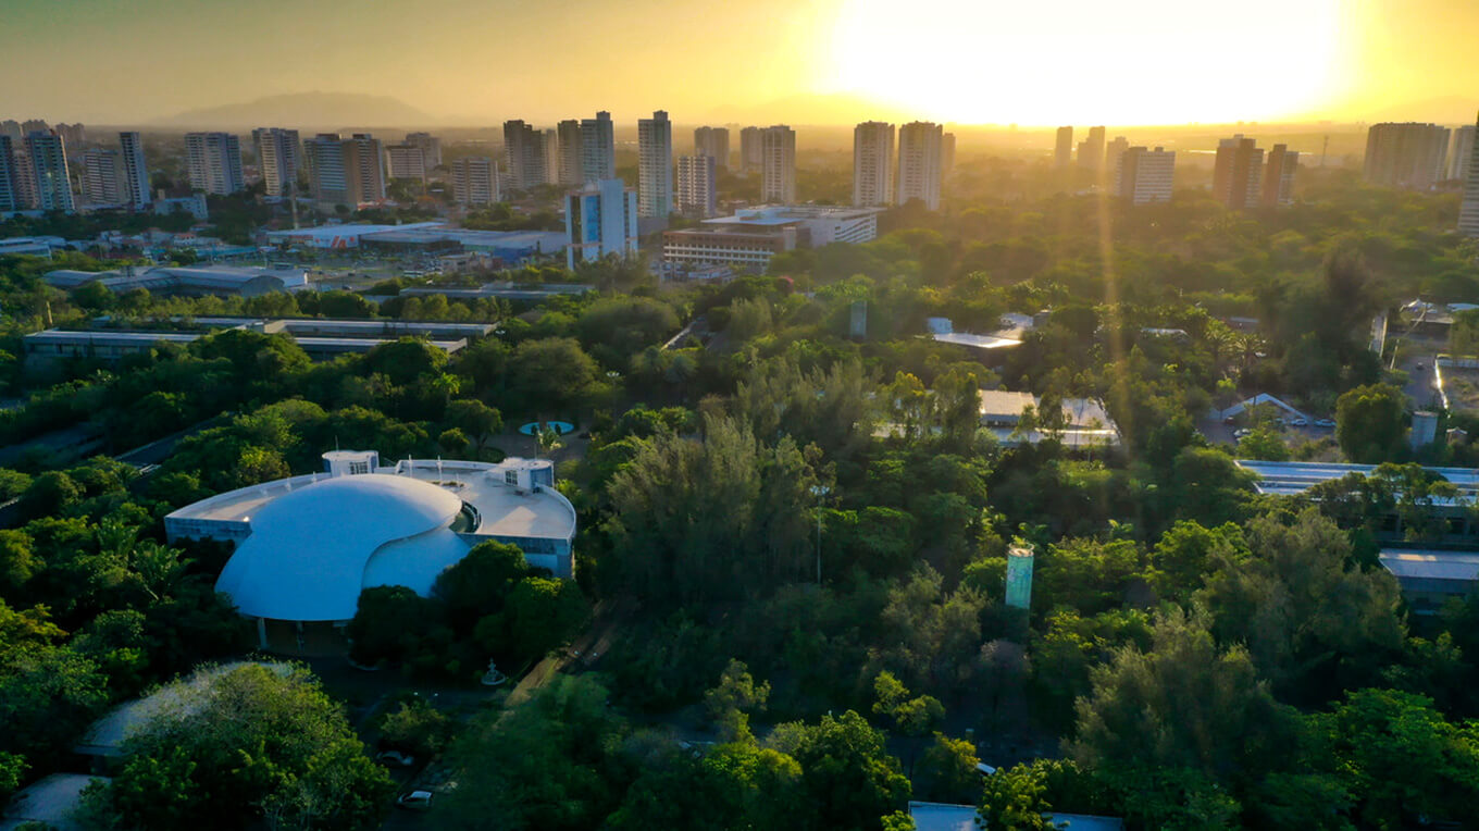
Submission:
<svg viewBox="0 0 1479 831">
<path fill-rule="evenodd" d="M 1479 106 L 1476 50 L 1479 0 L 0 0 L 0 117 L 322 90 L 467 124 L 1373 118 Z"/>
</svg>

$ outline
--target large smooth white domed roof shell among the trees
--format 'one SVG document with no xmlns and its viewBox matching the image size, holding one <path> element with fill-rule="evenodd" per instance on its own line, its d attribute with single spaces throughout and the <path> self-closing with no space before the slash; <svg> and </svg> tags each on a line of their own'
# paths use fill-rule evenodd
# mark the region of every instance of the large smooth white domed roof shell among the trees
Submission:
<svg viewBox="0 0 1479 831">
<path fill-rule="evenodd" d="M 216 590 L 250 617 L 346 621 L 364 587 L 429 591 L 467 552 L 448 528 L 458 510 L 460 498 L 410 476 L 322 479 L 251 516 L 251 535 L 226 562 Z"/>
</svg>

